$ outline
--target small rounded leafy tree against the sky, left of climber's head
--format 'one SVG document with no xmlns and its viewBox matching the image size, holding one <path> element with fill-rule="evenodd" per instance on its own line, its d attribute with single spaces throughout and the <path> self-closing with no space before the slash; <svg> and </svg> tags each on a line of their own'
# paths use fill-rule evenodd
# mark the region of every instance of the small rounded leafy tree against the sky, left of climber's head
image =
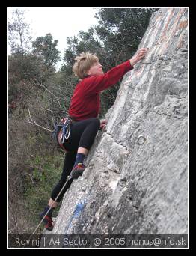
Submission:
<svg viewBox="0 0 196 256">
<path fill-rule="evenodd" d="M 43 58 L 44 63 L 48 67 L 53 67 L 59 60 L 61 60 L 60 51 L 56 49 L 58 40 L 52 41 L 52 34 L 46 34 L 45 37 L 37 37 L 32 43 L 34 55 Z"/>
</svg>

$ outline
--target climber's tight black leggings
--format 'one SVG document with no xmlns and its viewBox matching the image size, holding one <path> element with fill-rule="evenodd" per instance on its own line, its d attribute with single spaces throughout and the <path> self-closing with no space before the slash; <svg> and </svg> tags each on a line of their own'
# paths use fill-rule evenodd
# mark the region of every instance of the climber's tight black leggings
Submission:
<svg viewBox="0 0 196 256">
<path fill-rule="evenodd" d="M 65 154 L 64 158 L 64 168 L 61 174 L 61 179 L 58 181 L 55 188 L 52 190 L 51 198 L 55 200 L 58 196 L 58 193 L 61 191 L 64 183 L 66 182 L 67 176 L 70 175 L 70 172 L 73 169 L 73 165 L 76 160 L 76 154 L 79 147 L 85 147 L 90 150 L 92 144 L 94 143 L 94 138 L 97 135 L 97 131 L 100 127 L 100 121 L 98 118 L 89 118 L 84 121 L 76 122 L 71 124 L 70 138 L 67 141 L 64 141 L 64 147 L 69 151 Z M 61 201 L 64 193 L 69 189 L 73 179 L 67 182 L 67 185 L 64 187 L 63 191 L 57 198 L 57 202 Z"/>
</svg>

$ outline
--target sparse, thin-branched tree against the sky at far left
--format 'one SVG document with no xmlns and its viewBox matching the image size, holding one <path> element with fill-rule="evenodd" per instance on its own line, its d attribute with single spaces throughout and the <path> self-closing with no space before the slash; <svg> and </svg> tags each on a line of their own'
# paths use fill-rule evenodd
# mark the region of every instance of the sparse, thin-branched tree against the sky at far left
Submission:
<svg viewBox="0 0 196 256">
<path fill-rule="evenodd" d="M 12 19 L 8 21 L 8 40 L 11 53 L 25 55 L 29 50 L 31 36 L 29 25 L 25 23 L 25 11 L 13 10 Z"/>
</svg>

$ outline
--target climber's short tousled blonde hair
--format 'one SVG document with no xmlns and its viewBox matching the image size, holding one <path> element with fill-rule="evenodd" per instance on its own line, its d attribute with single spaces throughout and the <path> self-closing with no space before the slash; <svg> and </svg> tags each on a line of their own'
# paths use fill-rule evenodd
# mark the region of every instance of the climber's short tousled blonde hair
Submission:
<svg viewBox="0 0 196 256">
<path fill-rule="evenodd" d="M 91 52 L 81 52 L 79 56 L 75 58 L 73 64 L 73 73 L 80 79 L 84 79 L 87 75 L 88 70 L 96 63 L 99 62 L 97 55 Z"/>
</svg>

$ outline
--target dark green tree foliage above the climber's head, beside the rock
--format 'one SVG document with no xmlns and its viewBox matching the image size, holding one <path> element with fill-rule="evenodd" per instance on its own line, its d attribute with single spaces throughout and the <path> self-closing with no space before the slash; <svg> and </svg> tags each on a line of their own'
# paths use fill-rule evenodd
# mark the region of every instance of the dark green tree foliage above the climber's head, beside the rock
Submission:
<svg viewBox="0 0 196 256">
<path fill-rule="evenodd" d="M 99 25 L 78 36 L 67 37 L 64 61 L 72 66 L 80 52 L 94 52 L 105 70 L 131 58 L 156 9 L 102 8 L 96 14 Z"/>
</svg>

